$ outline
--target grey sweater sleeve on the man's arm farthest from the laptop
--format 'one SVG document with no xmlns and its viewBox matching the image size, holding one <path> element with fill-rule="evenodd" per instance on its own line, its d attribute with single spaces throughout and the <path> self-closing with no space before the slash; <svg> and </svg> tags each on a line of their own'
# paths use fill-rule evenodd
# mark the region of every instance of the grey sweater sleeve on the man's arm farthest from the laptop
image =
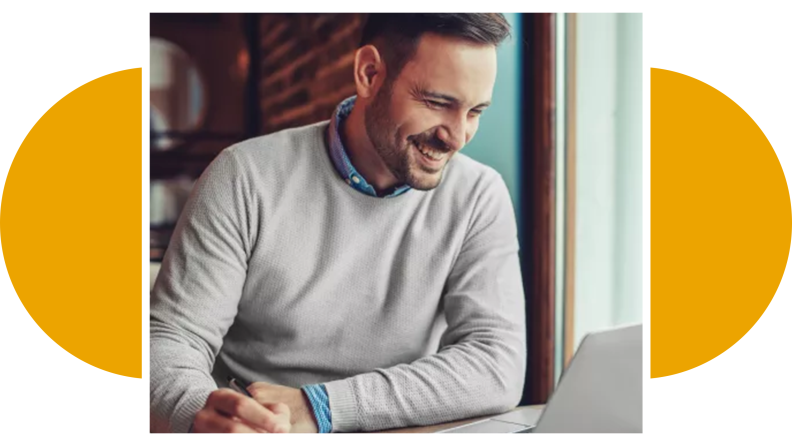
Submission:
<svg viewBox="0 0 792 446">
<path fill-rule="evenodd" d="M 187 432 L 245 282 L 247 189 L 233 148 L 195 183 L 151 292 L 151 430 Z"/>
</svg>

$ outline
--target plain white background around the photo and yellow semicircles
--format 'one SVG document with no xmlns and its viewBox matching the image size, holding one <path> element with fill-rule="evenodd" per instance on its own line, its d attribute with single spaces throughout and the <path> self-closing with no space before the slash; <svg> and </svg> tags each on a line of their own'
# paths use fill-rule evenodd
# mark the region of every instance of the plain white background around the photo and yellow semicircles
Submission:
<svg viewBox="0 0 792 446">
<path fill-rule="evenodd" d="M 148 12 L 187 11 L 175 1 L 14 2 L 5 4 L 0 26 L 0 179 L 4 178 L 27 132 L 60 98 L 97 77 L 127 68 L 148 72 Z M 307 3 L 307 2 L 306 2 Z M 472 6 L 507 12 L 643 12 L 644 29 L 644 316 L 649 321 L 649 67 L 695 77 L 739 104 L 764 131 L 787 172 L 792 171 L 789 126 L 792 112 L 789 44 L 792 35 L 780 1 L 726 2 L 496 2 Z M 189 2 L 192 11 L 266 11 L 288 7 L 326 11 L 390 10 L 395 4 L 222 1 Z M 458 10 L 461 2 L 429 5 L 401 1 L 405 10 Z M 717 8 L 717 9 L 714 9 Z M 143 76 L 143 101 L 148 79 Z M 144 102 L 145 104 L 145 102 Z M 148 110 L 143 107 L 143 141 L 147 144 Z M 89 126 L 90 123 L 86 123 Z M 86 131 L 88 127 L 86 127 Z M 90 134 L 90 133 L 88 133 Z M 78 150 L 78 148 L 67 148 Z M 109 144 L 108 150 L 112 150 Z M 148 150 L 143 149 L 143 208 L 148 209 Z M 101 187 L 102 185 L 97 185 Z M 144 219 L 148 212 L 142 213 Z M 148 289 L 148 221 L 141 222 L 141 288 Z M 727 241 L 724 241 L 727 242 Z M 85 265 L 90 280 L 91 265 Z M 668 441 L 759 441 L 789 438 L 790 272 L 768 310 L 735 346 L 689 372 L 649 380 L 645 349 L 644 434 L 641 436 L 499 436 L 499 442 L 666 444 Z M 64 298 L 77 290 L 64 290 Z M 144 379 L 96 369 L 61 349 L 44 334 L 16 297 L 4 269 L 0 272 L 0 339 L 3 340 L 0 382 L 0 441 L 69 441 L 80 444 L 142 442 L 209 444 L 208 436 L 148 434 L 148 364 Z M 148 299 L 143 297 L 143 353 L 148 358 Z M 112 298 L 112 290 L 108 290 Z M 750 298 L 750 296 L 746 296 Z M 648 346 L 648 336 L 646 336 Z M 8 438 L 6 438 L 8 437 Z M 201 438 L 196 438 L 201 437 Z M 227 441 L 250 444 L 303 442 L 305 436 L 242 436 Z M 317 437 L 310 437 L 317 438 Z M 369 441 L 366 436 L 323 436 L 329 442 Z M 393 436 L 381 437 L 396 442 Z M 445 437 L 444 437 L 445 438 Z M 457 436 L 473 443 L 476 437 Z M 361 440 L 362 439 L 362 440 Z M 437 437 L 409 437 L 437 441 Z M 11 440 L 11 441 L 7 441 Z M 765 440 L 765 441 L 762 441 Z"/>
</svg>

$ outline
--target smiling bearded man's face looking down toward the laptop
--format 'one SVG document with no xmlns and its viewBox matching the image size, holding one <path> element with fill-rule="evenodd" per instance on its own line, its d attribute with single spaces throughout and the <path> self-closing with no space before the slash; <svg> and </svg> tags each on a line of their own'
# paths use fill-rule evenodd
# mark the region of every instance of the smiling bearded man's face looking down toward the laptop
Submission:
<svg viewBox="0 0 792 446">
<path fill-rule="evenodd" d="M 440 184 L 448 160 L 478 129 L 495 85 L 495 47 L 425 34 L 412 60 L 366 110 L 366 132 L 388 169 L 419 190 Z"/>
</svg>

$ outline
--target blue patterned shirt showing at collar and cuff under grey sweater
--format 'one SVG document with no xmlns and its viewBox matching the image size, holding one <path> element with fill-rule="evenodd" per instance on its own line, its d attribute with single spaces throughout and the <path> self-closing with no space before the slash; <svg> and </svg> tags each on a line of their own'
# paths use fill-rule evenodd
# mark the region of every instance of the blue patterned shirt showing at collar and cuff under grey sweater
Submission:
<svg viewBox="0 0 792 446">
<path fill-rule="evenodd" d="M 352 186 L 355 190 L 362 192 L 372 197 L 378 197 L 377 191 L 374 187 L 363 178 L 352 165 L 352 162 L 347 156 L 346 149 L 343 142 L 341 142 L 341 124 L 344 119 L 349 116 L 352 107 L 355 105 L 355 96 L 349 97 L 338 104 L 338 107 L 333 113 L 330 120 L 330 144 L 328 151 L 330 152 L 330 159 L 333 161 L 338 174 L 346 181 L 347 184 Z M 390 193 L 383 195 L 383 198 L 395 197 L 410 190 L 409 185 L 397 186 Z M 308 401 L 313 408 L 314 417 L 316 417 L 316 424 L 319 427 L 319 433 L 328 433 L 333 430 L 333 423 L 330 418 L 330 399 L 327 396 L 327 389 L 324 384 L 312 384 L 302 387 L 303 392 L 308 397 Z"/>
</svg>

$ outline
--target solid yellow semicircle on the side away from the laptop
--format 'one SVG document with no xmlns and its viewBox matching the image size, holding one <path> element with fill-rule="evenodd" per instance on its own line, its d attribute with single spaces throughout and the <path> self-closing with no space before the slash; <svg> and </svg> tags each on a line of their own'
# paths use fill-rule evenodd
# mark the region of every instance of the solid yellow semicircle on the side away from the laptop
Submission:
<svg viewBox="0 0 792 446">
<path fill-rule="evenodd" d="M 88 82 L 50 108 L 14 157 L 0 240 L 14 289 L 58 345 L 140 378 L 142 70 Z"/>
</svg>

